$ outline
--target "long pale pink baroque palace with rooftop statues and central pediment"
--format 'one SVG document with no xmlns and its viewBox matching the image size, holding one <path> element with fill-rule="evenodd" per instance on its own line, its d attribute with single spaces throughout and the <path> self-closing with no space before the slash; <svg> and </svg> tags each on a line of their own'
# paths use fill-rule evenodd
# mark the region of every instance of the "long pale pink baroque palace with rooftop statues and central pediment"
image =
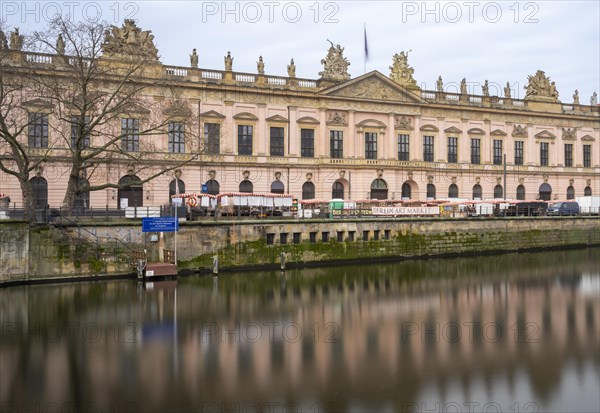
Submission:
<svg viewBox="0 0 600 413">
<path fill-rule="evenodd" d="M 24 51 L 18 36 L 13 33 L 10 45 L 0 45 L 8 56 L 3 65 L 43 69 L 48 76 L 61 70 L 58 55 Z M 343 52 L 331 44 L 318 79 L 297 78 L 293 59 L 286 77 L 265 74 L 262 57 L 257 73 L 235 72 L 229 52 L 225 70 L 202 69 L 195 49 L 190 67 L 175 67 L 158 60 L 149 31 L 129 20 L 112 27 L 102 64 L 118 67 L 150 56 L 143 76 L 159 81 L 143 89 L 139 101 L 145 108 L 124 109 L 113 128 L 122 134 L 123 149 L 135 155 L 144 150 L 140 142 L 151 140 L 154 156 L 96 162 L 94 175 L 84 180 L 130 186 L 91 192 L 82 205 L 164 205 L 175 192 L 175 178 L 181 192 L 200 192 L 206 184 L 211 194 L 273 192 L 322 200 L 547 200 L 600 194 L 595 93 L 589 105 L 579 102 L 577 91 L 573 102 L 562 103 L 541 70 L 529 76 L 524 99 L 511 97 L 516 91 L 508 84 L 503 96 L 490 95 L 487 81 L 475 94 L 465 79 L 459 93 L 450 93 L 441 76 L 436 90 L 422 90 L 407 53 L 393 56 L 389 76 L 372 71 L 351 78 Z M 158 106 L 159 114 L 185 112 L 186 121 L 174 116 L 163 133 L 140 136 L 148 113 Z M 23 142 L 30 150 L 45 149 L 60 128 L 53 124 L 55 109 L 33 98 L 24 107 L 35 122 L 23 131 Z M 91 148 L 95 139 L 102 136 L 91 137 Z M 65 148 L 49 149 L 31 179 L 37 204 L 59 207 L 68 168 L 58 154 Z M 177 163 L 180 168 L 144 182 Z M 1 172 L 0 192 L 19 205 L 17 180 Z"/>
</svg>

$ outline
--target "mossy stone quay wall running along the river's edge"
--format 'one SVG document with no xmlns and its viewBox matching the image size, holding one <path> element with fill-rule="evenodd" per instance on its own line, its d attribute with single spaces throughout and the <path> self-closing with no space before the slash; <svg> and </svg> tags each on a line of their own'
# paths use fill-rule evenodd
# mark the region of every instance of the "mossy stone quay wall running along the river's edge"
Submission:
<svg viewBox="0 0 600 413">
<path fill-rule="evenodd" d="M 343 219 L 185 222 L 177 234 L 179 269 L 279 268 L 354 260 L 559 249 L 600 245 L 598 217 Z M 175 249 L 135 222 L 30 226 L 0 221 L 0 284 L 131 274 L 131 250 L 157 261 Z"/>
</svg>

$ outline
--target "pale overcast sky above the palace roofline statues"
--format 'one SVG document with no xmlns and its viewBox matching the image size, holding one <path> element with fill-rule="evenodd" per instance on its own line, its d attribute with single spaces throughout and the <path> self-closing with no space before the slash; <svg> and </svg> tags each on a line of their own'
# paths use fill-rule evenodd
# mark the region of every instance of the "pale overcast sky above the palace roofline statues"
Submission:
<svg viewBox="0 0 600 413">
<path fill-rule="evenodd" d="M 43 29 L 60 10 L 75 19 L 122 24 L 126 17 L 152 30 L 164 64 L 189 66 L 197 48 L 199 66 L 223 69 L 228 50 L 235 71 L 256 72 L 262 55 L 267 74 L 318 78 L 327 39 L 345 48 L 352 77 L 366 71 L 389 75 L 392 56 L 412 50 L 409 64 L 425 89 L 442 75 L 448 91 L 466 78 L 470 92 L 490 94 L 510 82 L 524 97 L 527 76 L 541 69 L 556 81 L 559 99 L 581 103 L 600 91 L 600 1 L 131 1 L 58 0 L 0 2 L 2 20 L 27 34 Z M 454 86 L 453 86 L 454 85 Z M 498 94 L 502 94 L 498 90 Z"/>
</svg>

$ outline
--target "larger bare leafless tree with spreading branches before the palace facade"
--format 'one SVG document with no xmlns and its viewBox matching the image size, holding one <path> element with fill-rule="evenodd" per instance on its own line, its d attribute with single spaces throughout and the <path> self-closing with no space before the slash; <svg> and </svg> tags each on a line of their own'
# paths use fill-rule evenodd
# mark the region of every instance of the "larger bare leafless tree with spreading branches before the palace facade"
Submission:
<svg viewBox="0 0 600 413">
<path fill-rule="evenodd" d="M 23 80 L 20 104 L 29 94 L 51 108 L 54 139 L 43 157 L 37 154 L 35 162 L 17 168 L 20 182 L 29 181 L 36 162 L 62 163 L 68 176 L 63 207 L 70 213 L 89 192 L 127 185 L 113 181 L 107 165 L 127 165 L 131 175 L 143 175 L 143 184 L 197 159 L 189 145 L 197 130 L 192 111 L 163 75 L 150 32 L 133 21 L 118 28 L 57 18 L 46 31 L 30 36 L 28 48 L 40 57 L 11 67 L 20 70 Z M 16 120 L 22 118 L 6 113 L 16 122 L 11 152 L 17 165 L 30 156 L 30 148 L 17 145 L 27 127 Z M 173 130 L 185 133 L 188 148 L 185 155 L 165 161 L 157 142 Z"/>
</svg>

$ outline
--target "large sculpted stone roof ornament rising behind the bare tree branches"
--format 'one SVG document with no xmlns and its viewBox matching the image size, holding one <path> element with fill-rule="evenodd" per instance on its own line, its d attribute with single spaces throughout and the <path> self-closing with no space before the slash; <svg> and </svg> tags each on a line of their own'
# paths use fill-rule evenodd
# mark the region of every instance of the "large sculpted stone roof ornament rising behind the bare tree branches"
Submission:
<svg viewBox="0 0 600 413">
<path fill-rule="evenodd" d="M 126 19 L 123 27 L 111 26 L 104 32 L 102 52 L 108 57 L 144 58 L 158 62 L 152 32 L 140 29 L 131 19 Z"/>
</svg>

